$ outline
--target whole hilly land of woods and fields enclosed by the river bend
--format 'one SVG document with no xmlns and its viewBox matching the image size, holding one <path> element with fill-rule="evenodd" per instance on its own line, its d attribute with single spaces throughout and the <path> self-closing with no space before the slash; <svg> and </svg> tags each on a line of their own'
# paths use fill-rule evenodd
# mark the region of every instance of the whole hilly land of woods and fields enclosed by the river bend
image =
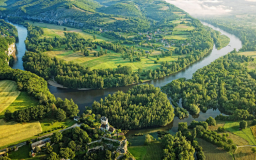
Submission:
<svg viewBox="0 0 256 160">
<path fill-rule="evenodd" d="M 26 47 L 30 52 L 23 58 L 24 68 L 68 88 L 101 89 L 158 79 L 200 60 L 214 42 L 220 44 L 220 33 L 164 1 L 86 3 L 93 10 L 82 7 L 82 1 L 79 5 L 75 1 L 19 2 L 5 6 L 3 14 L 28 28 Z M 57 9 L 52 10 L 54 5 Z M 44 9 L 38 13 L 33 12 L 35 8 Z M 48 15 L 53 17 L 46 20 Z M 63 15 L 65 22 L 61 22 Z M 40 27 L 41 22 L 83 32 L 63 27 L 64 31 L 52 36 Z"/>
</svg>

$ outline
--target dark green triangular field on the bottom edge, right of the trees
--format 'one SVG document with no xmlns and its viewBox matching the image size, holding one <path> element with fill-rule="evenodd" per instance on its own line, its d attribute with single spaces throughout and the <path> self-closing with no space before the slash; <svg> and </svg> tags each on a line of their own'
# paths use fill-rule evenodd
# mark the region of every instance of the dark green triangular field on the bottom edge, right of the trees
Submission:
<svg viewBox="0 0 256 160">
<path fill-rule="evenodd" d="M 204 155 L 206 157 L 205 160 L 233 160 L 232 154 L 212 145 L 212 143 L 202 140 L 201 138 L 197 138 L 196 141 L 198 141 L 200 147 L 203 148 Z"/>
</svg>

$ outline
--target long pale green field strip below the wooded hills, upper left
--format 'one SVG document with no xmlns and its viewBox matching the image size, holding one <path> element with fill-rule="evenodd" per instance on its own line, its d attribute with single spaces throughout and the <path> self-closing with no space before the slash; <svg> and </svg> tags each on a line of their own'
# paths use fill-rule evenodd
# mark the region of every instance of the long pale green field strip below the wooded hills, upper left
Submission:
<svg viewBox="0 0 256 160">
<path fill-rule="evenodd" d="M 31 22 L 27 20 L 30 24 L 33 24 L 33 26 L 38 26 L 40 28 L 44 29 L 44 35 L 41 36 L 41 38 L 47 37 L 47 38 L 54 38 L 56 37 L 65 37 L 64 32 L 76 32 L 79 33 L 83 38 L 85 39 L 92 39 L 93 40 L 93 34 L 85 33 L 82 31 L 82 29 L 76 29 L 76 28 L 69 28 L 66 26 L 58 26 L 55 24 L 47 24 L 42 22 Z M 67 28 L 67 31 L 64 31 L 63 29 Z M 97 39 L 95 41 L 102 41 L 102 40 L 108 40 L 108 38 L 100 35 L 96 35 Z"/>
</svg>

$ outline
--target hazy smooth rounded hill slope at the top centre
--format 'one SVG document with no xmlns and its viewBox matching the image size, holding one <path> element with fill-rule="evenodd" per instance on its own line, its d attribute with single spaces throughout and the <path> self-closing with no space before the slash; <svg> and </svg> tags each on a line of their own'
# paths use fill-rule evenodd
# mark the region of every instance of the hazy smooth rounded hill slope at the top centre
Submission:
<svg viewBox="0 0 256 160">
<path fill-rule="evenodd" d="M 116 3 L 108 7 L 102 7 L 99 12 L 110 14 L 110 15 L 124 15 L 138 17 L 142 16 L 140 10 L 134 3 Z"/>
</svg>

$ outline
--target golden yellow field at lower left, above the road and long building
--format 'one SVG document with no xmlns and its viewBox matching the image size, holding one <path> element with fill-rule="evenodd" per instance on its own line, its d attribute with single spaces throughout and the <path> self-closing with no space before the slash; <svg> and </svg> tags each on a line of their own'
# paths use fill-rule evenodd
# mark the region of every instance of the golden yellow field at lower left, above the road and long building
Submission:
<svg viewBox="0 0 256 160">
<path fill-rule="evenodd" d="M 4 122 L 0 120 L 0 147 L 14 143 L 15 141 L 26 140 L 42 132 L 40 122 L 29 122 L 18 124 L 17 122 Z"/>
</svg>

